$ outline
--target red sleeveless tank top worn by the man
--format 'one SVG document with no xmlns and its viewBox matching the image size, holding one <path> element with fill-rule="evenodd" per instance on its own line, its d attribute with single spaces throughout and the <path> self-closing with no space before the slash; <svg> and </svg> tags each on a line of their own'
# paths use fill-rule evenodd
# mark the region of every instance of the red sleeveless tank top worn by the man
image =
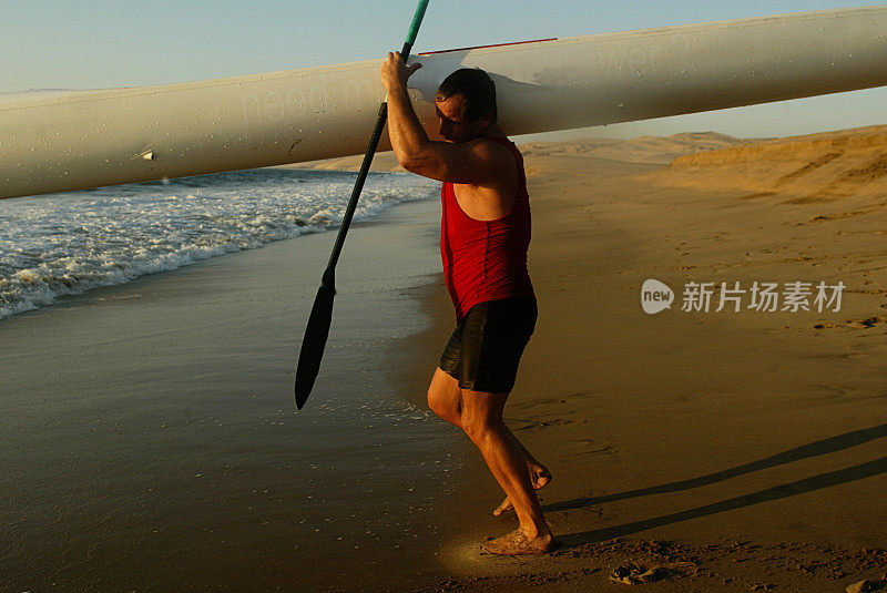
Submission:
<svg viewBox="0 0 887 593">
<path fill-rule="evenodd" d="M 520 183 L 511 209 L 495 221 L 468 216 L 456 201 L 451 183 L 441 188 L 440 255 L 456 317 L 486 300 L 531 297 L 527 272 L 530 246 L 530 197 L 523 173 L 523 156 L 507 137 L 491 137 L 509 149 L 518 164 Z"/>
</svg>

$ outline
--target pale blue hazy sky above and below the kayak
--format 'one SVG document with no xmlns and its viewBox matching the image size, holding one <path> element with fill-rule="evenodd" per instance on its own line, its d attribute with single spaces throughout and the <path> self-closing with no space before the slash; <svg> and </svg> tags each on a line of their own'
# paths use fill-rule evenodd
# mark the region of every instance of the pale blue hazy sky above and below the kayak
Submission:
<svg viewBox="0 0 887 593">
<path fill-rule="evenodd" d="M 431 0 L 414 51 L 883 3 Z M 163 84 L 381 58 L 400 48 L 415 8 L 414 0 L 0 0 L 0 92 Z M 887 124 L 887 88 L 538 137 L 772 137 L 876 124 Z"/>
</svg>

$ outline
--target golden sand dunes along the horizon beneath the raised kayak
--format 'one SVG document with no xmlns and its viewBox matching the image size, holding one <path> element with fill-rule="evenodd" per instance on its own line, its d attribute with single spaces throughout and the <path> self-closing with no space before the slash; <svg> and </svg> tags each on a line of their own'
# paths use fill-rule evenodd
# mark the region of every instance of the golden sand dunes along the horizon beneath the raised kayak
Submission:
<svg viewBox="0 0 887 593">
<path fill-rule="evenodd" d="M 528 177 L 538 175 L 548 157 L 573 157 L 578 166 L 580 161 L 600 159 L 667 165 L 643 174 L 646 183 L 657 186 L 737 191 L 742 200 L 767 205 L 817 203 L 826 206 L 817 214 L 819 219 L 887 209 L 887 125 L 768 140 L 694 132 L 529 142 L 520 149 Z M 363 159 L 355 155 L 288 166 L 357 171 Z M 404 170 L 392 152 L 385 152 L 375 156 L 373 171 Z M 834 207 L 827 207 L 828 203 Z"/>
</svg>

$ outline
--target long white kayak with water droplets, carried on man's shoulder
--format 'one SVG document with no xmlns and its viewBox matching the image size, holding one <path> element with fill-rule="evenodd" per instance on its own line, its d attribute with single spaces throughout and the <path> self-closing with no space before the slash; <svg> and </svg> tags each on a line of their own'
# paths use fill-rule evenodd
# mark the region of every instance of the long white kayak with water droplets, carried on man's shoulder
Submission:
<svg viewBox="0 0 887 593">
<path fill-rule="evenodd" d="M 429 132 L 438 84 L 463 67 L 492 74 L 506 133 L 551 132 L 887 85 L 887 6 L 410 60 Z M 360 154 L 385 99 L 380 63 L 0 94 L 0 198 Z"/>
</svg>

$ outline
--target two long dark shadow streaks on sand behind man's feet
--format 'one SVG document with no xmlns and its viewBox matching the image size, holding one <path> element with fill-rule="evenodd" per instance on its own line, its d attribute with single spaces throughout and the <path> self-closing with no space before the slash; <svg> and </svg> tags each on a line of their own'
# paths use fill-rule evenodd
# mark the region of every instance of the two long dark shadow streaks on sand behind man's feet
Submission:
<svg viewBox="0 0 887 593">
<path fill-rule="evenodd" d="M 853 432 L 847 432 L 845 434 L 839 434 L 837 437 L 832 437 L 829 439 L 812 442 L 809 444 L 797 447 L 795 449 L 791 449 L 783 453 L 767 457 L 758 461 L 753 461 L 751 463 L 737 466 L 728 470 L 710 473 L 707 476 L 702 476 L 700 478 L 693 478 L 691 480 L 682 480 L 680 482 L 671 482 L 667 484 L 653 485 L 650 488 L 642 488 L 639 490 L 630 490 L 626 492 L 619 492 L 615 494 L 605 494 L 602 497 L 588 497 L 582 499 L 568 500 L 563 502 L 555 502 L 553 504 L 546 504 L 543 507 L 543 510 L 548 512 L 564 511 L 569 509 L 581 509 L 581 508 L 592 507 L 604 502 L 613 502 L 618 500 L 625 500 L 636 497 L 646 497 L 649 494 L 664 494 L 669 492 L 679 492 L 681 490 L 689 490 L 691 488 L 699 488 L 702 485 L 712 484 L 715 482 L 727 480 L 730 478 L 735 478 L 737 476 L 751 473 L 753 471 L 759 471 L 768 468 L 774 468 L 776 466 L 791 463 L 793 461 L 798 461 L 802 459 L 808 459 L 812 457 L 823 456 L 827 453 L 833 453 L 835 451 L 849 449 L 850 447 L 856 447 L 866 443 L 868 441 L 880 439 L 884 437 L 887 437 L 887 425 L 880 425 L 877 427 L 866 428 L 863 430 L 855 430 Z M 789 482 L 787 484 L 767 488 L 766 490 L 759 490 L 757 492 L 752 492 L 750 494 L 743 494 L 742 497 L 735 497 L 721 502 L 705 504 L 703 507 L 696 507 L 695 509 L 689 509 L 686 511 L 680 511 L 676 513 L 664 514 L 662 517 L 654 517 L 651 519 L 634 521 L 632 523 L 625 523 L 612 528 L 583 531 L 581 533 L 559 534 L 558 540 L 560 542 L 560 548 L 562 549 L 573 548 L 584 543 L 612 540 L 614 538 L 621 538 L 648 529 L 669 525 L 672 523 L 679 523 L 681 521 L 686 521 L 690 519 L 707 517 L 710 514 L 715 514 L 724 511 L 742 509 L 743 507 L 751 507 L 752 504 L 759 504 L 762 502 L 794 497 L 797 494 L 803 494 L 805 492 L 813 492 L 816 490 L 820 490 L 823 488 L 853 482 L 855 480 L 860 480 L 863 478 L 870 478 L 871 476 L 878 476 L 885 472 L 887 472 L 887 457 L 881 457 L 880 459 L 868 461 L 866 463 L 860 463 L 858 466 L 853 466 L 850 468 L 820 473 L 812 478 L 805 478 L 803 480 L 797 480 L 794 482 Z"/>
</svg>

